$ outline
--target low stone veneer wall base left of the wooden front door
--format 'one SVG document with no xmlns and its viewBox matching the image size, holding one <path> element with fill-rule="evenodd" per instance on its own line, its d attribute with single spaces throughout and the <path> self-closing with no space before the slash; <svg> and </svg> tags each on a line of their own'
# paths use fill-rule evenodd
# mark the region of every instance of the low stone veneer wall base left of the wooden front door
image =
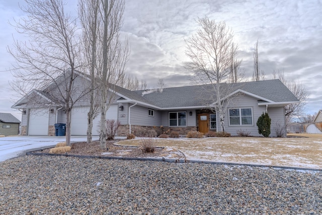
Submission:
<svg viewBox="0 0 322 215">
<path fill-rule="evenodd" d="M 131 125 L 131 132 L 136 133 L 140 130 L 156 130 L 159 129 L 159 127 L 153 127 L 153 126 L 141 126 L 141 125 Z M 129 133 L 129 125 L 121 125 L 117 130 L 118 136 L 126 136 Z M 187 127 L 163 127 L 164 131 L 176 131 L 179 133 L 179 135 L 186 135 L 191 130 L 197 130 L 196 126 L 187 126 Z M 168 133 L 170 133 L 168 132 Z"/>
</svg>

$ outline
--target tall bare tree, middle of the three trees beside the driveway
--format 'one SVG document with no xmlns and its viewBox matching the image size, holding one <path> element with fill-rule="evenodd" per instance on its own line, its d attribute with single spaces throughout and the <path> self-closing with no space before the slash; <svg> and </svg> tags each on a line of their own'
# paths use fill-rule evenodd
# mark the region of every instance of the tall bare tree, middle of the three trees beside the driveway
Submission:
<svg viewBox="0 0 322 215">
<path fill-rule="evenodd" d="M 79 0 L 78 15 L 83 28 L 83 53 L 85 58 L 84 71 L 90 75 L 90 110 L 88 112 L 87 125 L 87 142 L 92 142 L 93 120 L 98 116 L 99 100 L 95 97 L 95 92 L 98 90 L 96 82 L 96 74 L 102 68 L 102 17 L 100 14 L 100 0 Z"/>
</svg>

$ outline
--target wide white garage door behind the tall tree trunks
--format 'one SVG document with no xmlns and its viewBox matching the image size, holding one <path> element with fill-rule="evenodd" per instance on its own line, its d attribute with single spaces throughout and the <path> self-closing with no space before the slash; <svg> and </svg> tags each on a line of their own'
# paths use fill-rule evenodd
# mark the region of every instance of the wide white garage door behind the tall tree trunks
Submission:
<svg viewBox="0 0 322 215">
<path fill-rule="evenodd" d="M 117 120 L 118 105 L 111 105 L 106 113 L 107 119 Z M 71 112 L 70 133 L 71 135 L 86 135 L 87 134 L 87 113 L 89 107 L 73 107 Z M 93 135 L 99 135 L 100 115 L 93 122 Z"/>
</svg>

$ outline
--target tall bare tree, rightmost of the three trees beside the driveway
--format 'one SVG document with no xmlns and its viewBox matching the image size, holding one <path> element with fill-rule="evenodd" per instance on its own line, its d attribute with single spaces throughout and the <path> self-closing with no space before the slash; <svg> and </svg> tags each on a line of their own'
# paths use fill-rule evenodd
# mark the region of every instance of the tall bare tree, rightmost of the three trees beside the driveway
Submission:
<svg viewBox="0 0 322 215">
<path fill-rule="evenodd" d="M 106 112 L 115 99 L 115 85 L 120 84 L 128 60 L 128 44 L 121 44 L 120 28 L 123 24 L 123 0 L 102 0 L 103 38 L 102 63 L 99 73 L 101 96 L 100 147 L 106 147 Z"/>
</svg>

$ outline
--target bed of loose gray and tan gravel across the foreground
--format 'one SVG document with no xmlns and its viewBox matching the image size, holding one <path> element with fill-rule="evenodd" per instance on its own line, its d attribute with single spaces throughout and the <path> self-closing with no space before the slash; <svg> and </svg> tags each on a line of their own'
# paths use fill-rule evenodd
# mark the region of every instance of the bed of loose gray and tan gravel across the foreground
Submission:
<svg viewBox="0 0 322 215">
<path fill-rule="evenodd" d="M 0 173 L 0 214 L 322 213 L 321 172 L 24 156 Z"/>
</svg>

